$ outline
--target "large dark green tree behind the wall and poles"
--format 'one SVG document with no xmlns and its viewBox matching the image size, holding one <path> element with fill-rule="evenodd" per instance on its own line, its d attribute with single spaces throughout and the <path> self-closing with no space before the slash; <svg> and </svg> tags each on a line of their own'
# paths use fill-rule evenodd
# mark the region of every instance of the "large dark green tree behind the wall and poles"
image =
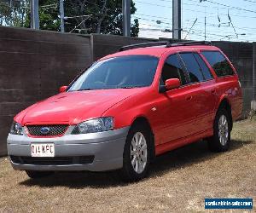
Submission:
<svg viewBox="0 0 256 213">
<path fill-rule="evenodd" d="M 64 9 L 66 17 L 73 17 L 65 20 L 66 32 L 122 35 L 121 0 L 65 0 Z M 135 12 L 135 3 L 131 1 L 131 14 Z M 27 15 L 26 27 L 30 27 L 29 17 L 30 14 Z M 39 20 L 40 29 L 60 31 L 59 0 L 40 0 Z M 139 23 L 137 19 L 133 21 L 131 36 L 137 37 Z"/>
</svg>

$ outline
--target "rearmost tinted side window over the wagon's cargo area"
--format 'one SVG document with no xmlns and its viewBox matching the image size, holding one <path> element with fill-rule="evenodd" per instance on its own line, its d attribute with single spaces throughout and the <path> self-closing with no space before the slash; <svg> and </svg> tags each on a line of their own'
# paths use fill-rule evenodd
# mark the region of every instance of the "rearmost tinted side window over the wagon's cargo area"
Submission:
<svg viewBox="0 0 256 213">
<path fill-rule="evenodd" d="M 201 54 L 206 57 L 218 77 L 234 74 L 229 61 L 220 52 L 203 51 Z"/>
</svg>

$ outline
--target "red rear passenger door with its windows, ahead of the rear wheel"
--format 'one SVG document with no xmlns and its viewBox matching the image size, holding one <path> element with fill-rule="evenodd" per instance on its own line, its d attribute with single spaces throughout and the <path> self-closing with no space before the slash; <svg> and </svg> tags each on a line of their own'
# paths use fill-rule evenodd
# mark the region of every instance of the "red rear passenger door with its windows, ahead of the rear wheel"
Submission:
<svg viewBox="0 0 256 213">
<path fill-rule="evenodd" d="M 217 103 L 216 83 L 201 56 L 195 52 L 180 53 L 189 78 L 187 110 L 193 114 L 191 133 L 212 129 L 212 113 Z"/>
</svg>

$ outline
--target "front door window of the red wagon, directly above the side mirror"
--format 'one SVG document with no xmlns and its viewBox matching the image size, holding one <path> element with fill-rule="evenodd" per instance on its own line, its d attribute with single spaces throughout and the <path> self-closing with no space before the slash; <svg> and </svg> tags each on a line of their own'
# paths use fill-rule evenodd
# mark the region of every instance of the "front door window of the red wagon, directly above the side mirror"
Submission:
<svg viewBox="0 0 256 213">
<path fill-rule="evenodd" d="M 177 55 L 170 55 L 165 62 L 161 75 L 161 85 L 163 85 L 169 78 L 178 78 L 181 84 L 186 83 L 183 68 L 177 59 Z"/>
</svg>

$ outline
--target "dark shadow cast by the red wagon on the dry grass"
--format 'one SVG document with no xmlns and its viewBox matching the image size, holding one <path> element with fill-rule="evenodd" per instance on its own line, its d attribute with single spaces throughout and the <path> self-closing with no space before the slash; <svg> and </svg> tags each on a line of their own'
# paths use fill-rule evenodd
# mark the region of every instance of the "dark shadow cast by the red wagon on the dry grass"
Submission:
<svg viewBox="0 0 256 213">
<path fill-rule="evenodd" d="M 236 141 L 233 140 L 230 145 L 232 152 L 242 146 L 253 141 Z M 163 176 L 173 170 L 179 170 L 197 164 L 202 161 L 210 160 L 211 158 L 218 158 L 221 153 L 211 153 L 208 151 L 206 141 L 198 141 L 186 147 L 181 147 L 177 150 L 163 154 L 155 158 L 154 164 L 151 165 L 150 175 L 144 181 L 154 176 Z M 119 177 L 119 172 L 60 172 L 55 173 L 53 176 L 48 176 L 38 180 L 27 179 L 20 182 L 20 185 L 25 186 L 39 186 L 39 187 L 70 187 L 70 188 L 83 188 L 83 187 L 120 187 L 127 186 Z"/>
</svg>

